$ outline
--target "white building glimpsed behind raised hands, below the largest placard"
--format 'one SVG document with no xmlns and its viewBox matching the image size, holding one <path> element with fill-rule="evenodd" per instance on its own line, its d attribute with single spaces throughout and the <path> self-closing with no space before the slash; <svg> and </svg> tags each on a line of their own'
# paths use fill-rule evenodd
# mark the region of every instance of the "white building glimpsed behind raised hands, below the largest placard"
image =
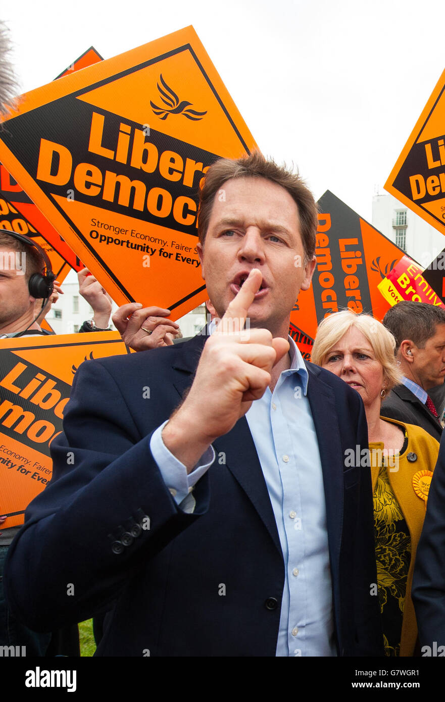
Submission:
<svg viewBox="0 0 445 702">
<path fill-rule="evenodd" d="M 71 270 L 62 283 L 63 295 L 53 305 L 46 315 L 46 321 L 51 325 L 56 334 L 72 334 L 79 331 L 79 327 L 86 319 L 93 317 L 93 310 L 86 300 L 79 295 L 77 274 Z M 113 312 L 117 305 L 113 303 Z M 178 319 L 182 336 L 194 336 L 206 324 L 206 306 L 200 305 L 192 312 Z M 114 329 L 110 319 L 110 326 Z"/>
</svg>

